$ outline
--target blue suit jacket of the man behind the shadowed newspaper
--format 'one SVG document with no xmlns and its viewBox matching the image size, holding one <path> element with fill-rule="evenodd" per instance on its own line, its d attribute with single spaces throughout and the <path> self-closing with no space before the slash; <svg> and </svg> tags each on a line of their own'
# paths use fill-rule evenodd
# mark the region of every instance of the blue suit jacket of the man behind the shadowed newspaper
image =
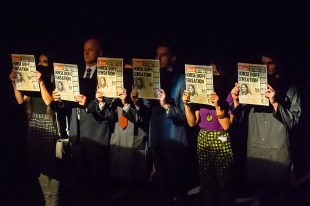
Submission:
<svg viewBox="0 0 310 206">
<path fill-rule="evenodd" d="M 150 121 L 150 147 L 153 149 L 179 150 L 187 147 L 185 116 L 182 95 L 186 88 L 183 74 L 173 74 L 169 80 L 169 90 L 165 90 L 168 96 L 170 109 L 167 112 L 158 101 L 151 104 L 152 113 Z M 162 81 L 161 81 L 162 82 Z"/>
</svg>

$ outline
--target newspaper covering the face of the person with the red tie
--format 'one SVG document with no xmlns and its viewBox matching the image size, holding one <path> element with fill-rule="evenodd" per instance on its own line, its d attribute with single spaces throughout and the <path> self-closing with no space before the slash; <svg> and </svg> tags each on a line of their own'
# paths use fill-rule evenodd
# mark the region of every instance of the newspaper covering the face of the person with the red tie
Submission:
<svg viewBox="0 0 310 206">
<path fill-rule="evenodd" d="M 123 59 L 98 57 L 98 87 L 106 97 L 119 97 L 123 89 Z"/>
</svg>

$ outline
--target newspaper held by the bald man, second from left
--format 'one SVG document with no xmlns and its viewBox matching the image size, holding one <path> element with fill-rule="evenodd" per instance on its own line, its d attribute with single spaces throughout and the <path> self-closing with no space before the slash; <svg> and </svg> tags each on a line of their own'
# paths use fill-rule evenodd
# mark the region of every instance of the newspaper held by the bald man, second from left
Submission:
<svg viewBox="0 0 310 206">
<path fill-rule="evenodd" d="M 61 100 L 75 102 L 80 94 L 78 66 L 75 64 L 54 63 L 55 86 Z"/>
</svg>

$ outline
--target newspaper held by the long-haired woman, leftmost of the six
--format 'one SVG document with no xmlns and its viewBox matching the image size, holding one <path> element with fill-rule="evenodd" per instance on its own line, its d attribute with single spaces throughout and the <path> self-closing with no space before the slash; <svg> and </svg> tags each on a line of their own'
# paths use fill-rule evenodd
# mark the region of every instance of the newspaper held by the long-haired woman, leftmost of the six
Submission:
<svg viewBox="0 0 310 206">
<path fill-rule="evenodd" d="M 34 55 L 11 54 L 13 70 L 16 72 L 16 88 L 22 91 L 40 91 L 35 78 L 36 63 Z"/>
</svg>

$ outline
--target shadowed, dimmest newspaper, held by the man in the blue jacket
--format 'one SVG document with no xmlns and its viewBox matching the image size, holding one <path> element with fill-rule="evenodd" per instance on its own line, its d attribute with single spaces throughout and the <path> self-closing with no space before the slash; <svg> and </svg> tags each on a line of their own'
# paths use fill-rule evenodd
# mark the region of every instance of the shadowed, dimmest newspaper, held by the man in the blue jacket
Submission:
<svg viewBox="0 0 310 206">
<path fill-rule="evenodd" d="M 160 88 L 160 68 L 158 59 L 132 59 L 134 84 L 139 98 L 157 99 Z"/>
</svg>

